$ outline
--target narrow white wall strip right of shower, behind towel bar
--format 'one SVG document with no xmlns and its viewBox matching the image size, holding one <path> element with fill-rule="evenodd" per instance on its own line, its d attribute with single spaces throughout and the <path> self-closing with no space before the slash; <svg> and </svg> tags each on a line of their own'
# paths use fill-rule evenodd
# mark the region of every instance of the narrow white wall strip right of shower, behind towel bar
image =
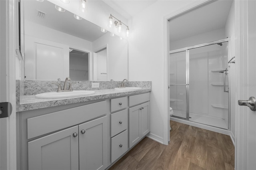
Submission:
<svg viewBox="0 0 256 170">
<path fill-rule="evenodd" d="M 226 22 L 226 27 L 225 27 L 225 33 L 228 38 L 231 40 L 231 45 L 230 45 L 230 59 L 231 57 L 235 56 L 235 8 L 234 8 L 234 2 L 230 8 L 229 15 L 228 15 L 228 20 Z M 235 105 L 236 105 L 236 64 L 231 63 L 229 64 L 230 67 L 228 68 L 229 71 L 229 77 L 230 77 L 230 91 L 231 91 L 231 124 L 230 124 L 230 130 L 233 134 L 233 139 L 235 138 L 236 135 L 236 110 L 235 110 Z"/>
</svg>

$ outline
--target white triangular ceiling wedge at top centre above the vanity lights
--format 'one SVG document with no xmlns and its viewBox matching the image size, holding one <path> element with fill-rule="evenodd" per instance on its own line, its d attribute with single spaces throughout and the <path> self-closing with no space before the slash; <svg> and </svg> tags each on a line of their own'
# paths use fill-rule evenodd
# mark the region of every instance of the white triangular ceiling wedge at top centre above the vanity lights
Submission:
<svg viewBox="0 0 256 170">
<path fill-rule="evenodd" d="M 158 0 L 102 0 L 126 19 L 131 19 Z"/>
</svg>

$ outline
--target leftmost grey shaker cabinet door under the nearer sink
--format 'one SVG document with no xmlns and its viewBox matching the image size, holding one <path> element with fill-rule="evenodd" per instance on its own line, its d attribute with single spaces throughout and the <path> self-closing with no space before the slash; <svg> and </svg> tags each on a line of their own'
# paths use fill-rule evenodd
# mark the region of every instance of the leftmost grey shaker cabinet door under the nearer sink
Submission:
<svg viewBox="0 0 256 170">
<path fill-rule="evenodd" d="M 73 134 L 78 135 L 78 126 L 28 142 L 28 169 L 78 170 L 78 136 Z"/>
</svg>

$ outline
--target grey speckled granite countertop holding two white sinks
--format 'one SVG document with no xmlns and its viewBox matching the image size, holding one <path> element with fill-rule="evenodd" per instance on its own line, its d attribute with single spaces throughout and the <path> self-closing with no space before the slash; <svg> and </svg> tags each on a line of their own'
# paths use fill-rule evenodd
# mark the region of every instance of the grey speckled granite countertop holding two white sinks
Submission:
<svg viewBox="0 0 256 170">
<path fill-rule="evenodd" d="M 122 97 L 125 95 L 134 95 L 139 93 L 150 92 L 151 88 L 142 88 L 140 90 L 115 90 L 102 89 L 94 90 L 95 93 L 85 97 L 76 98 L 58 98 L 58 99 L 38 99 L 35 95 L 20 96 L 20 104 L 16 105 L 16 112 L 29 111 L 34 109 L 42 109 L 47 107 L 54 107 L 60 105 L 68 105 L 73 103 L 80 103 L 86 101 L 95 101 L 100 99 L 108 99 L 112 97 Z"/>
</svg>

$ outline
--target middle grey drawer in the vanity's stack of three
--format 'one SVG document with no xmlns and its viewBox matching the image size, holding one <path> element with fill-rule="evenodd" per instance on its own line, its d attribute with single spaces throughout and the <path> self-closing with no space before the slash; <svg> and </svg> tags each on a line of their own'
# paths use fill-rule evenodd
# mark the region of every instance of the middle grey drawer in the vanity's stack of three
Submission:
<svg viewBox="0 0 256 170">
<path fill-rule="evenodd" d="M 110 115 L 110 135 L 111 137 L 128 128 L 128 109 L 112 113 Z"/>
</svg>

